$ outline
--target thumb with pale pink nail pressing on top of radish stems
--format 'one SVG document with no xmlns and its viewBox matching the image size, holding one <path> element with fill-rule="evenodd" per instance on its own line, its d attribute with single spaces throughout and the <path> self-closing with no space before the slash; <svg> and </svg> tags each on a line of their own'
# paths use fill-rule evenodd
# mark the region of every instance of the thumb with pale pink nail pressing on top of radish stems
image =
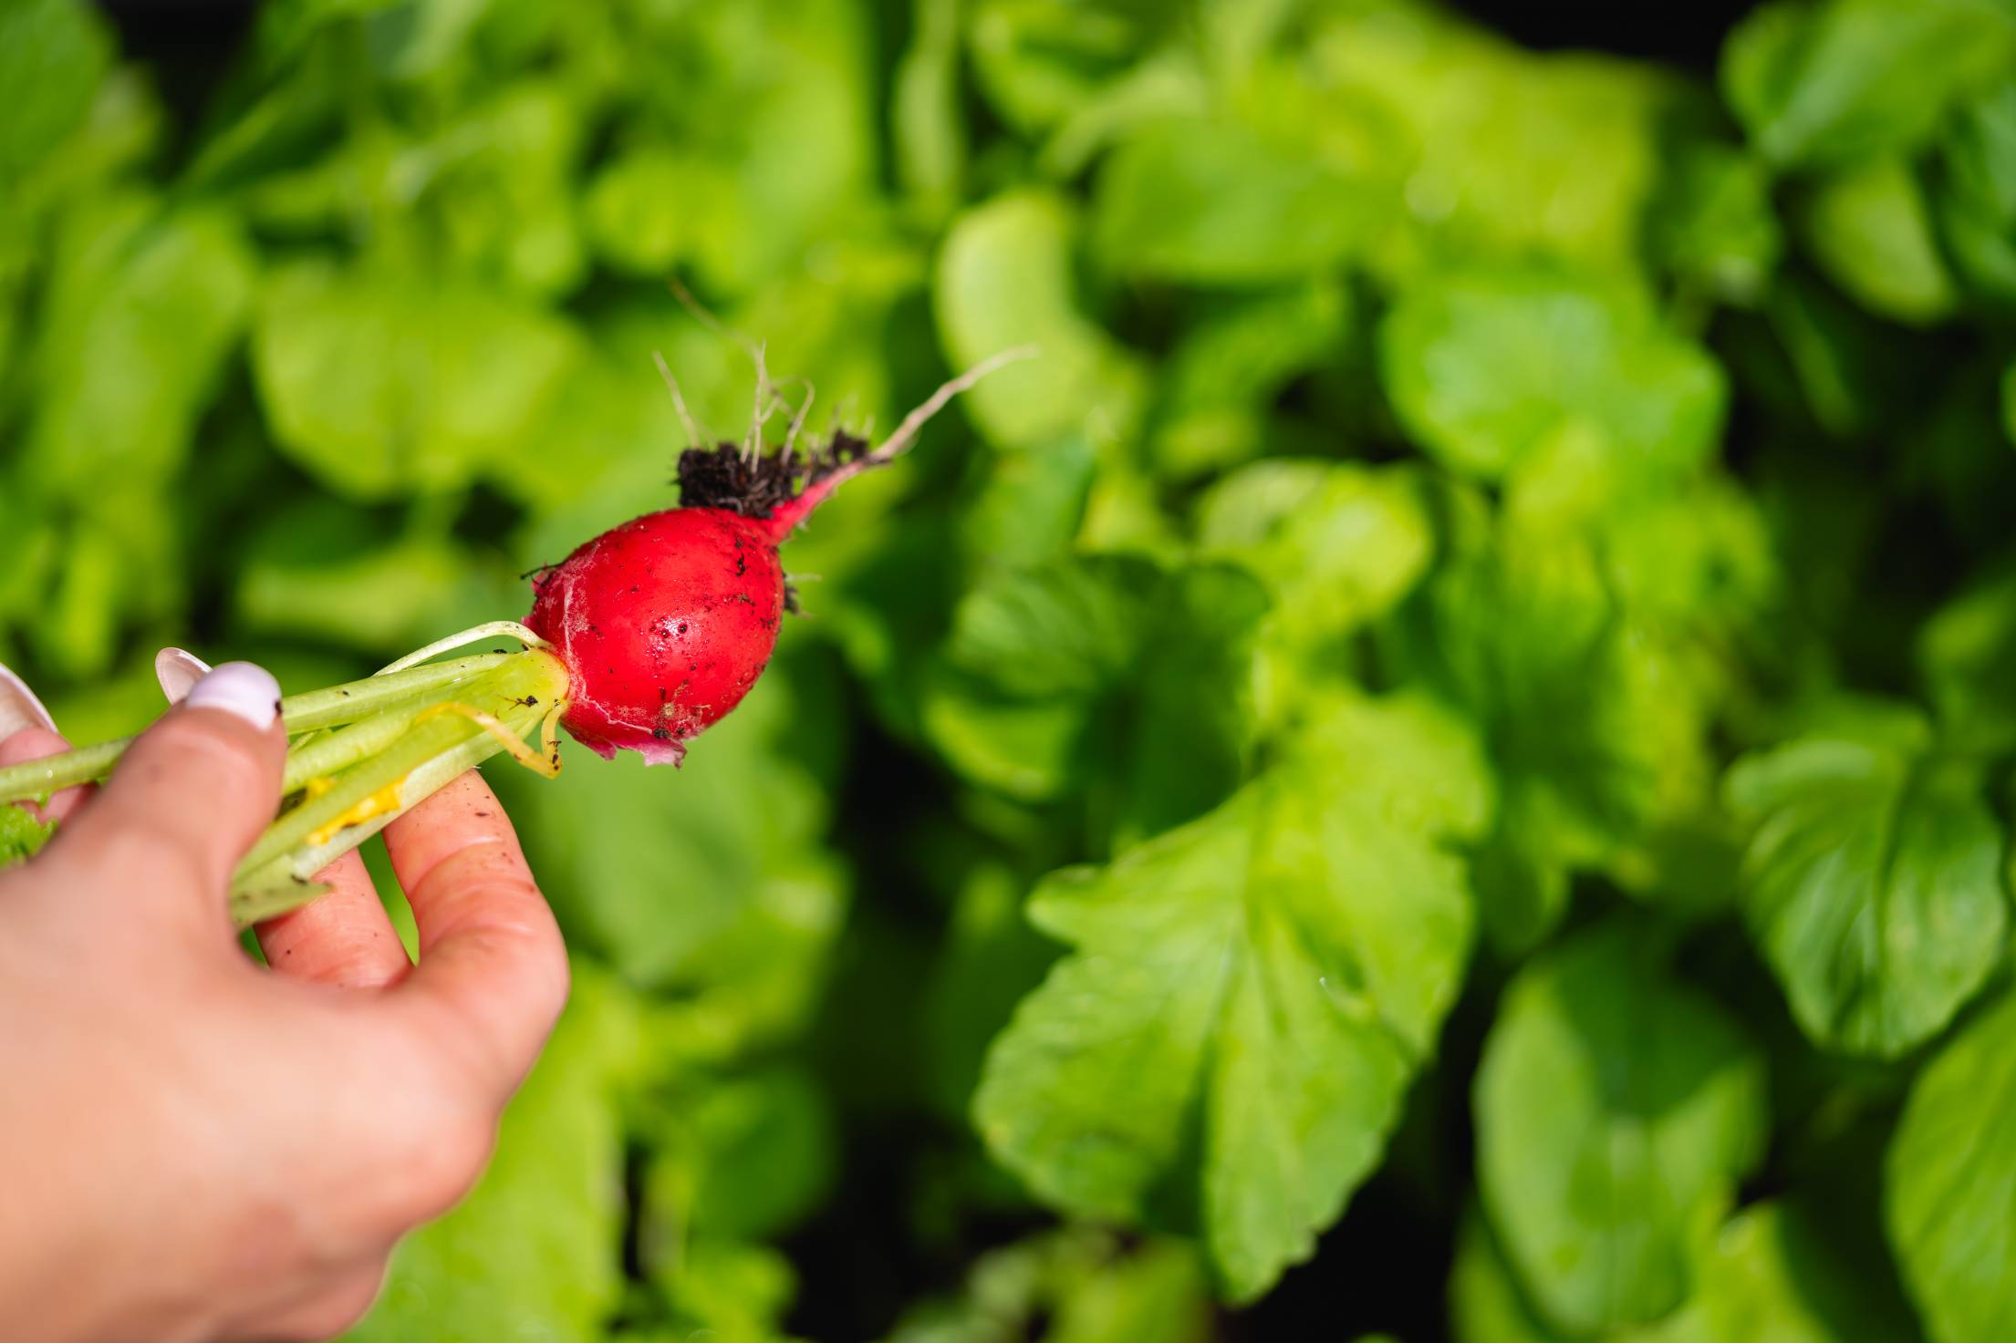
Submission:
<svg viewBox="0 0 2016 1343">
<path fill-rule="evenodd" d="M 226 662 L 127 749 L 111 781 L 58 832 L 56 862 L 115 864 L 91 882 L 129 908 L 159 892 L 214 900 L 280 803 L 280 687 L 260 666 Z M 125 888 L 133 888 L 131 892 Z M 196 890 L 190 890 L 190 888 Z"/>
</svg>

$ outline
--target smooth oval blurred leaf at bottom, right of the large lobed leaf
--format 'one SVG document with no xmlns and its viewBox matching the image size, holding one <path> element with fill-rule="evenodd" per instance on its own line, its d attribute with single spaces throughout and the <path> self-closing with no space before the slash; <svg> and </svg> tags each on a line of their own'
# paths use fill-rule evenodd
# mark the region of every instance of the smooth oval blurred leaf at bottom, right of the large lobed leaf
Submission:
<svg viewBox="0 0 2016 1343">
<path fill-rule="evenodd" d="M 1474 1089 L 1478 1186 L 1546 1319 L 1572 1335 L 1657 1319 L 1764 1154 L 1762 1059 L 1629 928 L 1530 962 Z"/>
</svg>

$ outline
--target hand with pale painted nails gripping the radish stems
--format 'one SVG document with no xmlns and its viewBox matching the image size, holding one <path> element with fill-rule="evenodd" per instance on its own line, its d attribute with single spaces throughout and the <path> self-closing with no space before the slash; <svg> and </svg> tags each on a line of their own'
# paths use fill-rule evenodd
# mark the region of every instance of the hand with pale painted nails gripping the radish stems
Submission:
<svg viewBox="0 0 2016 1343">
<path fill-rule="evenodd" d="M 270 675 L 204 673 L 163 654 L 187 699 L 97 795 L 52 799 L 56 838 L 0 874 L 14 1343 L 339 1333 L 399 1234 L 474 1184 L 566 999 L 552 912 L 474 773 L 385 832 L 419 964 L 357 854 L 258 928 L 270 968 L 246 958 L 226 886 L 278 805 L 286 737 Z M 0 668 L 0 765 L 60 749 Z"/>
</svg>

